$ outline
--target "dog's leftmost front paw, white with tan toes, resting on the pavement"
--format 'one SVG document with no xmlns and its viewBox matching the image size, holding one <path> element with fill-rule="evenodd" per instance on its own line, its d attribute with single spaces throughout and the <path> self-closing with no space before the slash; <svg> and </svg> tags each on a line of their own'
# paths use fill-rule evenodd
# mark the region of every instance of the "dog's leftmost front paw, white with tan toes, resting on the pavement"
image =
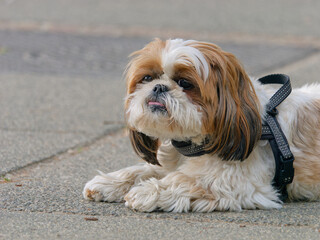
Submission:
<svg viewBox="0 0 320 240">
<path fill-rule="evenodd" d="M 83 189 L 83 197 L 96 202 L 122 202 L 132 183 L 111 174 L 95 176 Z"/>
</svg>

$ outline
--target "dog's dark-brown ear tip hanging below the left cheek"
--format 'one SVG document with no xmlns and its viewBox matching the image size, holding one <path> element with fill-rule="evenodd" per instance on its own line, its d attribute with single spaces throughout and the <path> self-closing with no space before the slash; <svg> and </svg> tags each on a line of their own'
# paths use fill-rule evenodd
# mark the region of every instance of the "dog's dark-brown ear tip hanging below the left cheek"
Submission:
<svg viewBox="0 0 320 240">
<path fill-rule="evenodd" d="M 157 159 L 159 140 L 132 129 L 129 133 L 134 151 L 146 162 L 161 166 Z"/>
</svg>

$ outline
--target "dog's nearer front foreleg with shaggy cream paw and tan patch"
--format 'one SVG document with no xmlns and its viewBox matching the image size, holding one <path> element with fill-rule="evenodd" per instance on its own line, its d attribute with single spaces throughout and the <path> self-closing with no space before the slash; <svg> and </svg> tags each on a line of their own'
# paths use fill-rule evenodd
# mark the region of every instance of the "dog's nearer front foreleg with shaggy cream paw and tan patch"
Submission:
<svg viewBox="0 0 320 240">
<path fill-rule="evenodd" d="M 143 212 L 163 210 L 188 212 L 195 199 L 214 200 L 196 182 L 181 172 L 172 172 L 163 179 L 151 178 L 134 186 L 125 196 L 126 206 Z"/>
</svg>

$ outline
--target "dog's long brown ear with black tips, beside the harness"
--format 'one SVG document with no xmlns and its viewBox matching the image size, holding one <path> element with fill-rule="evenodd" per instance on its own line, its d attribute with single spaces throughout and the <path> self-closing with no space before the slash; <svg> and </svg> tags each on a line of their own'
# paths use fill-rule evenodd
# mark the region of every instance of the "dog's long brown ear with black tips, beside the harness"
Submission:
<svg viewBox="0 0 320 240">
<path fill-rule="evenodd" d="M 206 110 L 203 131 L 209 137 L 206 149 L 224 160 L 243 161 L 260 139 L 262 128 L 252 82 L 231 53 L 211 44 L 198 48 L 211 66 L 209 78 L 200 86 Z"/>
</svg>

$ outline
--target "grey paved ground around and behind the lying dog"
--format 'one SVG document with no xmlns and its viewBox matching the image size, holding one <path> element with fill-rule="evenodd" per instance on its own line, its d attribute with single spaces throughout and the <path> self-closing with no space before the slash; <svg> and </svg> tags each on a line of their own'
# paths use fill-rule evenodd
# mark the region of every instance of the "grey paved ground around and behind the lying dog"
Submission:
<svg viewBox="0 0 320 240">
<path fill-rule="evenodd" d="M 133 165 L 127 56 L 154 37 L 213 41 L 251 75 L 319 81 L 320 5 L 304 1 L 0 0 L 0 239 L 319 239 L 320 204 L 137 213 L 82 199 Z"/>
</svg>

